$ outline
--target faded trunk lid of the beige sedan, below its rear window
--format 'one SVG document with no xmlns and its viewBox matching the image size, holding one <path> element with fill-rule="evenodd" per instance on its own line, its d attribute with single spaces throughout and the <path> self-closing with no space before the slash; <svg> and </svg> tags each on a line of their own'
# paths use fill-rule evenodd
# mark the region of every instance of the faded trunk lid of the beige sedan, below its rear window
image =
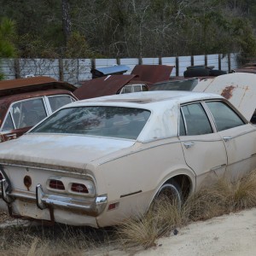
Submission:
<svg viewBox="0 0 256 256">
<path fill-rule="evenodd" d="M 26 134 L 1 145 L 0 163 L 84 170 L 94 160 L 131 147 L 135 141 L 75 135 Z M 113 156 L 112 156 L 113 157 Z"/>
</svg>

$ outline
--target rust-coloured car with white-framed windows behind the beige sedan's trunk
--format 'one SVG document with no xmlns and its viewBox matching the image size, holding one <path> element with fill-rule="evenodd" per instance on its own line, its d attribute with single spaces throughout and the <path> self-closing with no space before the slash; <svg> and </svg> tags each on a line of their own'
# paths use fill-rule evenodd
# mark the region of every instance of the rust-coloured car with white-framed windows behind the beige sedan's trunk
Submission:
<svg viewBox="0 0 256 256">
<path fill-rule="evenodd" d="M 0 82 L 0 143 L 20 137 L 63 105 L 77 100 L 72 84 L 49 77 Z"/>
</svg>

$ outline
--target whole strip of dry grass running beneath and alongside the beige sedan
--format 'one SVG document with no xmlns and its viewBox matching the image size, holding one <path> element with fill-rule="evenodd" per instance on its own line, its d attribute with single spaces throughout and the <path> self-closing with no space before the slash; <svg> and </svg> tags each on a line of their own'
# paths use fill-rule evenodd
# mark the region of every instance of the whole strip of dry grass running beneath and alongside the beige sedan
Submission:
<svg viewBox="0 0 256 256">
<path fill-rule="evenodd" d="M 219 179 L 190 195 L 182 207 L 157 201 L 146 215 L 118 227 L 91 228 L 14 226 L 0 229 L 1 255 L 108 255 L 113 249 L 128 252 L 152 247 L 161 236 L 198 220 L 256 207 L 256 171 L 236 181 Z"/>
</svg>

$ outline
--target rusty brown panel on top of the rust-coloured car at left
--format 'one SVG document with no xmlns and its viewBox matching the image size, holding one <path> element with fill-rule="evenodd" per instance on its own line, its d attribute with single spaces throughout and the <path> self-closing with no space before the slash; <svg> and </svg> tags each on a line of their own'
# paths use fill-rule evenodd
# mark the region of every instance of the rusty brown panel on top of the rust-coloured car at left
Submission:
<svg viewBox="0 0 256 256">
<path fill-rule="evenodd" d="M 49 89 L 65 89 L 73 91 L 76 87 L 73 84 L 57 81 L 56 79 L 44 76 L 0 81 L 0 96 Z"/>
</svg>

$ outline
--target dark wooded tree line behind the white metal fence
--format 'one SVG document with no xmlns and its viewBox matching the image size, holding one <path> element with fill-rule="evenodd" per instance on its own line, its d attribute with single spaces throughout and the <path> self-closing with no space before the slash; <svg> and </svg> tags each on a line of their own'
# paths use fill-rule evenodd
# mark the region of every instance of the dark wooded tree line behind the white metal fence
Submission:
<svg viewBox="0 0 256 256">
<path fill-rule="evenodd" d="M 252 0 L 0 0 L 22 58 L 256 57 Z"/>
</svg>

